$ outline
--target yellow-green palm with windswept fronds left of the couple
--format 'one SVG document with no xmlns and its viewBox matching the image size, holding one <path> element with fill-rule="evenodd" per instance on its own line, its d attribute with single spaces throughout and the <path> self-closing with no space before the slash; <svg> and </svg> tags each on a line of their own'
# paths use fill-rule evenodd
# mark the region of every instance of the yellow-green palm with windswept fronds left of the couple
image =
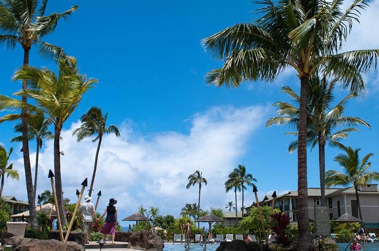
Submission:
<svg viewBox="0 0 379 251">
<path fill-rule="evenodd" d="M 24 67 L 18 70 L 13 80 L 26 80 L 30 88 L 16 92 L 16 96 L 28 95 L 35 100 L 36 106 L 27 104 L 29 110 L 42 110 L 54 125 L 54 174 L 57 200 L 61 223 L 67 223 L 63 203 L 62 175 L 61 175 L 61 150 L 60 139 L 64 122 L 79 105 L 81 97 L 88 89 L 92 88 L 98 81 L 87 79 L 80 74 L 77 68 L 76 59 L 72 56 L 65 56 L 57 59 L 58 75 L 53 71 L 35 67 Z M 17 99 L 0 95 L 0 108 L 17 109 L 25 106 L 24 102 Z"/>
</svg>

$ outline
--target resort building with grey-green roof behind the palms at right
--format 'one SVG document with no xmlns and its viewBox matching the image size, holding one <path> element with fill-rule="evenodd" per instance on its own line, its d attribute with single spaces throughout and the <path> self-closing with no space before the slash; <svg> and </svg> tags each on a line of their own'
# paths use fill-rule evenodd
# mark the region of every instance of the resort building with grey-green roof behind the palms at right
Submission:
<svg viewBox="0 0 379 251">
<path fill-rule="evenodd" d="M 362 219 L 366 227 L 379 227 L 379 192 L 377 184 L 367 184 L 358 186 L 359 202 L 362 210 Z M 308 188 L 308 213 L 309 219 L 314 220 L 314 208 L 320 206 L 321 191 L 319 188 Z M 339 216 L 348 213 L 359 218 L 357 211 L 357 199 L 354 187 L 326 188 L 326 204 L 329 207 L 329 219 L 333 220 Z M 265 196 L 259 202 L 261 206 L 271 206 L 272 197 Z M 251 207 L 246 208 L 246 213 L 250 214 Z M 289 191 L 287 194 L 279 195 L 275 198 L 274 208 L 280 209 L 291 217 L 292 222 L 297 222 L 298 215 L 298 192 Z"/>
</svg>

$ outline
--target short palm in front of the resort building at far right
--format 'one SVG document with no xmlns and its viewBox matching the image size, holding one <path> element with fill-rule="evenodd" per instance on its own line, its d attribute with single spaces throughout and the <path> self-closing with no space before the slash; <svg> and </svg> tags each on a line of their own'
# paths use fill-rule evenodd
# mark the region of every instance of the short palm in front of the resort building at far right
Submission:
<svg viewBox="0 0 379 251">
<path fill-rule="evenodd" d="M 331 185 L 347 186 L 352 184 L 357 198 L 359 219 L 363 220 L 359 203 L 358 185 L 366 185 L 371 180 L 379 180 L 379 173 L 368 169 L 371 165 L 368 159 L 373 155 L 372 153 L 367 154 L 360 160 L 358 152 L 361 149 L 354 150 L 351 147 L 345 147 L 344 150 L 345 154 L 339 154 L 334 158 L 342 167 L 343 172 L 328 170 L 326 172 L 325 183 L 328 187 Z"/>
</svg>

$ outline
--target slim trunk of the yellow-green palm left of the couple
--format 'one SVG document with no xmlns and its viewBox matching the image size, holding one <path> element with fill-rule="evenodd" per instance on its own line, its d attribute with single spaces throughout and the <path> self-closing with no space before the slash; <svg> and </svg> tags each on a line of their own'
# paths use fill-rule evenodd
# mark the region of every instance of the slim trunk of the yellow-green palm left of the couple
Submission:
<svg viewBox="0 0 379 251">
<path fill-rule="evenodd" d="M 57 121 L 59 123 L 59 121 Z M 59 215 L 61 217 L 61 226 L 63 227 L 67 223 L 65 206 L 63 203 L 63 190 L 62 190 L 62 176 L 61 176 L 61 150 L 59 141 L 61 138 L 62 128 L 60 124 L 55 125 L 54 135 L 54 175 L 55 175 L 55 190 L 57 193 L 57 202 Z"/>
</svg>

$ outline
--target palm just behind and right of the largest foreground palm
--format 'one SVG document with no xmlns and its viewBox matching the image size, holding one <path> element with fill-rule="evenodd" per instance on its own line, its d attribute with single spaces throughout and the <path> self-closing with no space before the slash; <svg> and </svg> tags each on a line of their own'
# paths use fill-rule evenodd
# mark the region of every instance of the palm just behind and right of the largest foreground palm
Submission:
<svg viewBox="0 0 379 251">
<path fill-rule="evenodd" d="M 320 190 L 321 198 L 320 205 L 326 206 L 325 200 L 325 145 L 329 143 L 331 147 L 341 146 L 340 141 L 349 136 L 350 132 L 359 131 L 352 126 L 359 124 L 370 128 L 369 124 L 359 117 L 343 116 L 347 102 L 356 97 L 356 93 L 350 93 L 343 98 L 337 105 L 333 106 L 335 100 L 333 95 L 334 87 L 337 79 L 328 82 L 325 78 L 320 79 L 317 76 L 312 76 L 308 82 L 308 135 L 307 140 L 313 149 L 318 144 L 319 155 L 319 172 L 320 172 Z M 273 124 L 288 125 L 294 128 L 298 127 L 299 121 L 299 100 L 300 97 L 290 87 L 282 88 L 282 92 L 287 93 L 295 102 L 291 105 L 287 102 L 276 102 L 278 107 L 278 117 L 270 118 L 266 126 L 270 127 Z M 349 127 L 346 129 L 334 132 L 336 128 Z M 289 133 L 289 134 L 297 134 Z M 289 152 L 293 152 L 298 147 L 298 141 L 291 142 Z"/>
</svg>

